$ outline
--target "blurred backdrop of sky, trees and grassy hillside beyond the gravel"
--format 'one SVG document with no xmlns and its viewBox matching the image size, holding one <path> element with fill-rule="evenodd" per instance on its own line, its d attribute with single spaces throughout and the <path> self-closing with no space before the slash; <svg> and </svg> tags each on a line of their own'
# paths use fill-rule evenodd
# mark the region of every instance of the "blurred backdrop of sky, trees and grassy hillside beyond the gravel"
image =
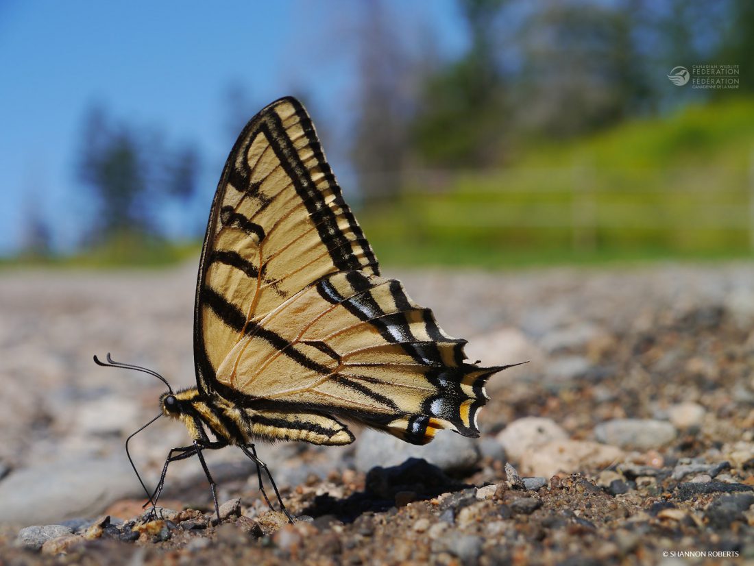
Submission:
<svg viewBox="0 0 754 566">
<path fill-rule="evenodd" d="M 287 94 L 384 264 L 754 249 L 746 0 L 4 0 L 0 52 L 6 265 L 195 258 Z"/>
</svg>

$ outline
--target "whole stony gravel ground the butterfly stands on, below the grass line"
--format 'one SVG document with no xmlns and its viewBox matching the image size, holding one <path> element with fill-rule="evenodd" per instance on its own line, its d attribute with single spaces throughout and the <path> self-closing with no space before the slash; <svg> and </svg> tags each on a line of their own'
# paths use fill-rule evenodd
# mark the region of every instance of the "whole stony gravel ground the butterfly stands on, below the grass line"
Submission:
<svg viewBox="0 0 754 566">
<path fill-rule="evenodd" d="M 492 379 L 480 439 L 260 445 L 291 512 L 225 448 L 170 468 L 160 516 L 125 437 L 192 384 L 195 268 L 0 275 L 0 564 L 713 564 L 754 561 L 754 266 L 393 272 Z M 185 443 L 133 441 L 154 485 Z"/>
</svg>

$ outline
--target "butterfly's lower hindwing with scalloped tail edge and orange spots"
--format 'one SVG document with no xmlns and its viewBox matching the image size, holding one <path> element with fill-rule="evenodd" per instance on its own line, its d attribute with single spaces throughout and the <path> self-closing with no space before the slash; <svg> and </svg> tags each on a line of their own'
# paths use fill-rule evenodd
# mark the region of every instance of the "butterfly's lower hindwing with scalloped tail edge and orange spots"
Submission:
<svg viewBox="0 0 754 566">
<path fill-rule="evenodd" d="M 397 280 L 348 271 L 247 326 L 217 387 L 240 405 L 314 409 L 416 444 L 443 428 L 477 436 L 484 383 L 501 368 L 465 363 L 464 343 Z"/>
</svg>

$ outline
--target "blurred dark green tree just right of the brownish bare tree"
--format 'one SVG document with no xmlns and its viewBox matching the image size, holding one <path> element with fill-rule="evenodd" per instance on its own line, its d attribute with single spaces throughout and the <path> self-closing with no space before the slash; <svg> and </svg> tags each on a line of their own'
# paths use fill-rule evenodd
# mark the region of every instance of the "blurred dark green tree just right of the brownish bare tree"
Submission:
<svg viewBox="0 0 754 566">
<path fill-rule="evenodd" d="M 460 0 L 470 49 L 455 63 L 428 75 L 412 137 L 421 161 L 431 166 L 489 164 L 504 133 L 504 81 L 495 26 L 506 0 Z"/>
</svg>

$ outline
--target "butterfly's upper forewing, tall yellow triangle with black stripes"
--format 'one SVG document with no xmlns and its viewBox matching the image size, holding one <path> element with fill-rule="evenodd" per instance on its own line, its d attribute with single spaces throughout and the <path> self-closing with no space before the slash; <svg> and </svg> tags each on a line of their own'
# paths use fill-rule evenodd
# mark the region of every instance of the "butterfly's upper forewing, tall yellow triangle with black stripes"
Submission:
<svg viewBox="0 0 754 566">
<path fill-rule="evenodd" d="M 199 390 L 216 388 L 217 369 L 249 327 L 349 270 L 379 272 L 305 109 L 280 99 L 244 128 L 213 200 L 195 301 Z"/>
</svg>

